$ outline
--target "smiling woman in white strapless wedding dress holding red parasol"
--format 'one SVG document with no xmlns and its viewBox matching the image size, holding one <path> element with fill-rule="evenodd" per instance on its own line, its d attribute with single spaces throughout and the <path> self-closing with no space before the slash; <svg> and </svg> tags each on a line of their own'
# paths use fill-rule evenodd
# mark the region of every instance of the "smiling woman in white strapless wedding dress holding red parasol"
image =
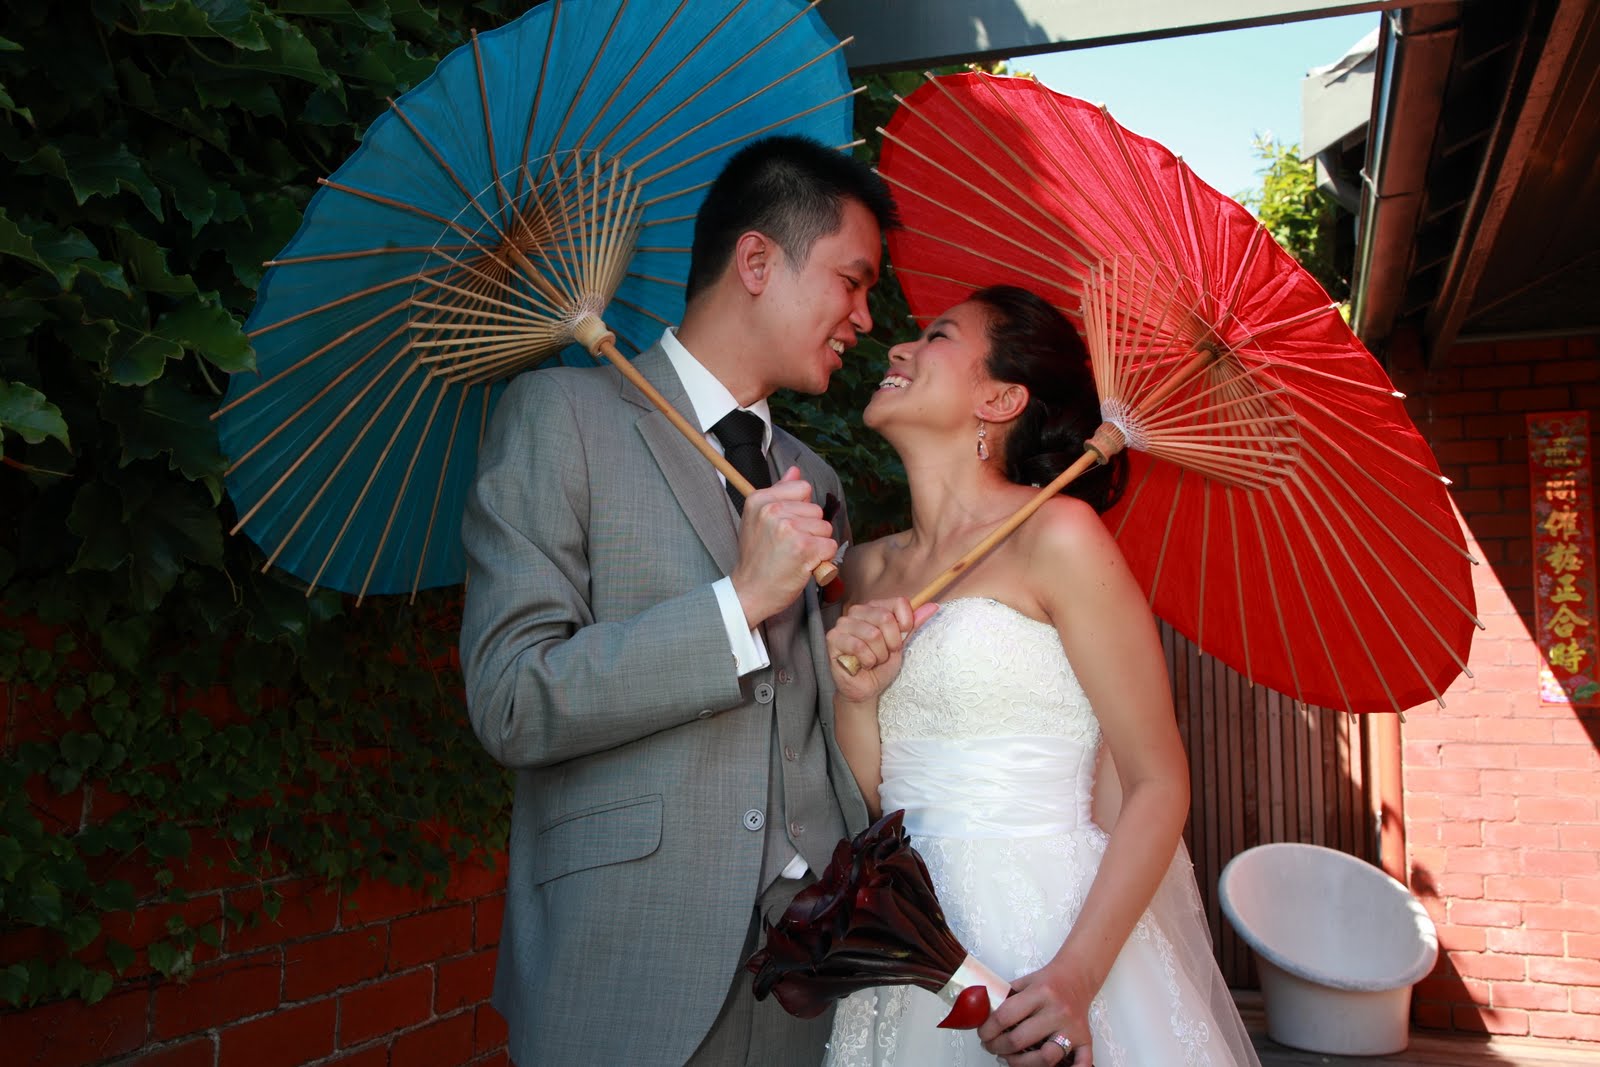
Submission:
<svg viewBox="0 0 1600 1067">
<path fill-rule="evenodd" d="M 942 605 L 906 600 L 1082 454 L 1099 410 L 1077 333 L 1022 290 L 976 293 L 890 352 L 866 422 L 906 464 L 912 526 L 845 560 L 838 744 L 874 816 L 906 809 L 952 933 L 1014 992 L 976 1032 L 938 1029 L 949 1008 L 922 989 L 856 993 L 826 1064 L 1256 1065 L 1181 845 L 1160 640 L 1096 514 L 1120 458 Z M 1110 833 L 1091 817 L 1102 745 L 1122 784 Z"/>
</svg>

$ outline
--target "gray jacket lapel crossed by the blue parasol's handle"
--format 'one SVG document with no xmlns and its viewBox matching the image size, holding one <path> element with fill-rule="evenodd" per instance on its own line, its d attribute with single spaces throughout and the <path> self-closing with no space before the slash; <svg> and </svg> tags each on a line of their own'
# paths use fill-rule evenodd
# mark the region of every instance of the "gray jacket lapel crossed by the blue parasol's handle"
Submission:
<svg viewBox="0 0 1600 1067">
<path fill-rule="evenodd" d="M 661 346 L 645 350 L 634 360 L 634 366 L 683 418 L 694 421 L 683 384 L 672 371 L 672 363 Z M 733 512 L 728 509 L 728 493 L 722 488 L 717 470 L 627 379 L 622 379 L 622 397 L 643 408 L 635 426 L 656 466 L 661 467 L 661 477 L 678 498 L 678 507 L 683 509 L 706 550 L 717 560 L 717 566 L 731 574 L 739 561 L 739 539 L 733 528 Z"/>
</svg>

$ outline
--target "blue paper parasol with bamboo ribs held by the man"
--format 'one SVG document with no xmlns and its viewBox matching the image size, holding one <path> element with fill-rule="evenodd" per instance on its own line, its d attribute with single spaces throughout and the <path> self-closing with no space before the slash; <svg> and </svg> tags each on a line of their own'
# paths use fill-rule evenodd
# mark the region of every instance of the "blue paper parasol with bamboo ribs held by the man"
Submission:
<svg viewBox="0 0 1600 1067">
<path fill-rule="evenodd" d="M 552 0 L 392 101 L 267 264 L 258 374 L 216 414 L 234 533 L 312 589 L 462 581 L 504 381 L 600 355 L 645 386 L 618 346 L 680 320 L 728 155 L 776 133 L 850 141 L 843 45 L 814 6 Z"/>
</svg>

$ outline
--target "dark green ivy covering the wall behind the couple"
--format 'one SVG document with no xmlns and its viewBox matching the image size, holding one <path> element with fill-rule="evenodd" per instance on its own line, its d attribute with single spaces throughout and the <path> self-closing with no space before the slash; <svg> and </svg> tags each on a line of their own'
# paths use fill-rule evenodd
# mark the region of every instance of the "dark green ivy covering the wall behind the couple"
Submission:
<svg viewBox="0 0 1600 1067">
<path fill-rule="evenodd" d="M 506 774 L 453 667 L 459 590 L 416 603 L 262 573 L 227 536 L 211 413 L 315 181 L 472 29 L 526 0 L 90 0 L 0 19 L 0 1006 L 182 976 L 310 873 L 442 888 L 504 841 Z M 872 78 L 862 152 L 914 75 Z M 845 478 L 858 536 L 906 520 L 861 408 L 907 336 L 824 398 L 779 398 Z M 8 701 L 8 704 L 6 704 Z M 254 913 L 170 920 L 221 864 Z M 176 909 L 174 909 L 176 913 Z"/>
</svg>

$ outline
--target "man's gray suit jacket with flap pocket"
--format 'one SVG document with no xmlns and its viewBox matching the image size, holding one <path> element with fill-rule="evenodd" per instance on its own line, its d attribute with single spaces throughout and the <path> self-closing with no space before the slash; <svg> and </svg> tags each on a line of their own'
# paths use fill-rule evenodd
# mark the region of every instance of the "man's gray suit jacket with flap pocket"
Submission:
<svg viewBox="0 0 1600 1067">
<path fill-rule="evenodd" d="M 659 346 L 635 365 L 686 410 Z M 789 434 L 774 429 L 771 458 L 840 494 Z M 843 509 L 835 531 L 848 537 Z M 768 627 L 771 667 L 736 677 L 712 592 L 738 558 L 726 494 L 611 368 L 510 382 L 462 537 L 467 707 L 517 771 L 494 984 L 510 1054 L 682 1064 L 742 965 L 768 835 L 821 872 L 866 825 L 832 736 L 816 587 Z M 784 718 L 790 693 L 808 705 Z M 789 763 L 771 755 L 774 718 Z M 806 797 L 811 811 L 787 809 Z"/>
</svg>

